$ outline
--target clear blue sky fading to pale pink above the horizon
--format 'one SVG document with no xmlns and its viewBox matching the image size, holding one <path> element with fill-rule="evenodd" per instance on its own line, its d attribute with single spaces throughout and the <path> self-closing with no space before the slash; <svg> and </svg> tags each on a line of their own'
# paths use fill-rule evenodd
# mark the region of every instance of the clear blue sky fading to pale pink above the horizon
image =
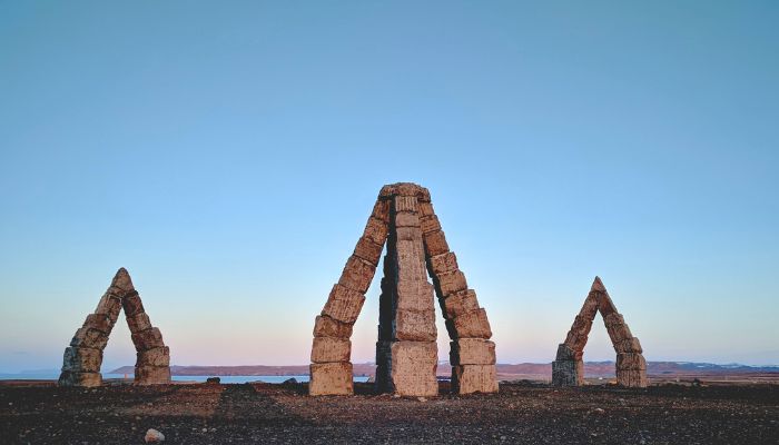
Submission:
<svg viewBox="0 0 779 445">
<path fill-rule="evenodd" d="M 551 360 L 600 275 L 648 359 L 777 364 L 777 22 L 772 1 L 0 1 L 0 372 L 58 368 L 121 266 L 174 364 L 308 363 L 395 181 L 430 188 L 500 362 Z M 119 326 L 103 369 L 134 363 Z M 613 359 L 600 322 L 585 358 Z"/>
</svg>

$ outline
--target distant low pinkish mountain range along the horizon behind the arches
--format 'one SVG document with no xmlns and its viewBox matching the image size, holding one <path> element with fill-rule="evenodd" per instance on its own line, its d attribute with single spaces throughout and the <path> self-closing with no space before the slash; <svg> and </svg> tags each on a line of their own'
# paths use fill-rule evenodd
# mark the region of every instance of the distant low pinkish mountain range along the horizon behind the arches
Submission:
<svg viewBox="0 0 779 445">
<path fill-rule="evenodd" d="M 114 369 L 114 374 L 132 374 L 132 366 Z M 354 364 L 355 376 L 373 376 L 376 365 L 373 363 Z M 438 375 L 450 375 L 448 363 L 438 365 Z M 176 376 L 269 376 L 269 375 L 308 375 L 308 365 L 289 366 L 171 366 L 170 373 Z M 650 376 L 696 376 L 696 375 L 739 375 L 739 374 L 772 374 L 779 373 L 779 366 L 747 366 L 739 364 L 717 365 L 711 363 L 691 362 L 648 362 L 647 374 Z M 552 364 L 521 363 L 517 365 L 497 364 L 499 378 L 551 378 Z M 584 374 L 588 377 L 613 377 L 614 362 L 586 362 Z"/>
</svg>

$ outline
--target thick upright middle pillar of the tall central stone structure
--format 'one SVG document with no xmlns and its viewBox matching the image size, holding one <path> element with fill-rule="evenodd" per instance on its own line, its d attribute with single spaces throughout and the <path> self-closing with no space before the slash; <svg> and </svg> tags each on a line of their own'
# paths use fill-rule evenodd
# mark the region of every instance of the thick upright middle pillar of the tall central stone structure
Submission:
<svg viewBox="0 0 779 445">
<path fill-rule="evenodd" d="M 417 199 L 402 194 L 387 199 L 389 235 L 379 298 L 376 387 L 403 396 L 435 396 L 434 289 L 427 281 Z"/>
</svg>

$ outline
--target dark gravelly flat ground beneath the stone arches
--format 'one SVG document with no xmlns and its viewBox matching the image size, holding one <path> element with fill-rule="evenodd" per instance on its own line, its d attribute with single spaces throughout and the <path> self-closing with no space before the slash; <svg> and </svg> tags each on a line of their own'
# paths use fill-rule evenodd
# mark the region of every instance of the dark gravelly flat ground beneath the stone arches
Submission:
<svg viewBox="0 0 779 445">
<path fill-rule="evenodd" d="M 496 395 L 308 397 L 297 385 L 0 384 L 0 442 L 779 444 L 779 386 L 503 384 Z M 442 390 L 446 390 L 442 384 Z"/>
</svg>

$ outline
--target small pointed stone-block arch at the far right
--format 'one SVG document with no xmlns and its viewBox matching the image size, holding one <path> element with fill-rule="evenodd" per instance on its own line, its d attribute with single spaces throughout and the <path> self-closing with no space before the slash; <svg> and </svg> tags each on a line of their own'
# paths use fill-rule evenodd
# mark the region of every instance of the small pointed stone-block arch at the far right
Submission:
<svg viewBox="0 0 779 445">
<path fill-rule="evenodd" d="M 555 386 L 581 386 L 584 384 L 582 356 L 595 314 L 601 313 L 609 338 L 617 353 L 617 384 L 627 387 L 645 387 L 647 360 L 641 343 L 630 332 L 624 318 L 617 312 L 603 283 L 599 277 L 592 283 L 584 305 L 573 320 L 565 342 L 558 346 L 552 363 L 552 384 Z"/>
</svg>

